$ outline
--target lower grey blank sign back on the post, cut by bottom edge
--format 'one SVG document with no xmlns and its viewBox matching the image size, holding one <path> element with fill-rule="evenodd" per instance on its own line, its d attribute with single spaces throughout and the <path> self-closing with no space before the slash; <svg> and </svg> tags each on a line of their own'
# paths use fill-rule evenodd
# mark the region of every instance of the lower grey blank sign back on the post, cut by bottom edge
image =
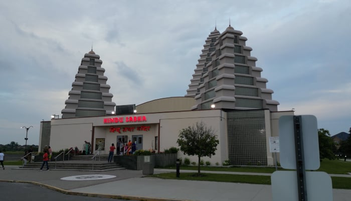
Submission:
<svg viewBox="0 0 351 201">
<path fill-rule="evenodd" d="M 332 201 L 331 178 L 325 172 L 306 171 L 308 201 Z M 271 176 L 273 201 L 296 201 L 298 198 L 296 171 L 275 171 Z"/>
</svg>

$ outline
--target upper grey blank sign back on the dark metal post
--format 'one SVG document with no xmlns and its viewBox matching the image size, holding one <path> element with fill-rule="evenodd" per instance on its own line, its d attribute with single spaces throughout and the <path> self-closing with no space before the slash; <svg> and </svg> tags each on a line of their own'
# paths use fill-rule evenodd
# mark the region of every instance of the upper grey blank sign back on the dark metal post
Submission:
<svg viewBox="0 0 351 201">
<path fill-rule="evenodd" d="M 280 165 L 285 169 L 296 169 L 294 116 L 279 118 Z M 319 146 L 317 118 L 313 115 L 301 116 L 304 167 L 306 170 L 319 168 Z"/>
</svg>

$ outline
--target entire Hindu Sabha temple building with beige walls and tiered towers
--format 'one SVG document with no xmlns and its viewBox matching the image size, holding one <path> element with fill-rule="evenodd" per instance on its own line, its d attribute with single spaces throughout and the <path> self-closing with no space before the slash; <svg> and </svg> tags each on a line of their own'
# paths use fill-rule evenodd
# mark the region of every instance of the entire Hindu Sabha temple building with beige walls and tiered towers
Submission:
<svg viewBox="0 0 351 201">
<path fill-rule="evenodd" d="M 108 153 L 112 143 L 131 140 L 137 149 L 159 153 L 178 147 L 180 130 L 203 122 L 220 141 L 215 155 L 204 161 L 273 165 L 269 137 L 279 136 L 279 117 L 293 111 L 278 111 L 273 90 L 266 87 L 268 80 L 261 77 L 262 68 L 256 66 L 257 59 L 250 55 L 252 48 L 242 35 L 230 25 L 222 34 L 215 28 L 205 40 L 185 96 L 131 103 L 131 110 L 124 113 L 118 111 L 125 106 L 112 102 L 102 61 L 91 50 L 75 75 L 62 118 L 41 122 L 39 149 L 49 145 L 54 151 L 81 149 L 88 141 L 92 153 L 98 143 Z M 178 157 L 198 160 L 181 151 Z"/>
</svg>

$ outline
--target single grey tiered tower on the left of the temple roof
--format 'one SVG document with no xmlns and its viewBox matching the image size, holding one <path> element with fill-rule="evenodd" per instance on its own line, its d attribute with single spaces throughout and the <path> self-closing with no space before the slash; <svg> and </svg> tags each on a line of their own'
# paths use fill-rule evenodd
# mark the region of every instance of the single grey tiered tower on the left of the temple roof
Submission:
<svg viewBox="0 0 351 201">
<path fill-rule="evenodd" d="M 100 56 L 93 49 L 84 54 L 66 107 L 61 111 L 63 119 L 114 114 L 116 104 L 112 102 L 113 94 L 109 93 L 110 85 L 106 84 L 107 77 L 101 64 Z"/>
</svg>

